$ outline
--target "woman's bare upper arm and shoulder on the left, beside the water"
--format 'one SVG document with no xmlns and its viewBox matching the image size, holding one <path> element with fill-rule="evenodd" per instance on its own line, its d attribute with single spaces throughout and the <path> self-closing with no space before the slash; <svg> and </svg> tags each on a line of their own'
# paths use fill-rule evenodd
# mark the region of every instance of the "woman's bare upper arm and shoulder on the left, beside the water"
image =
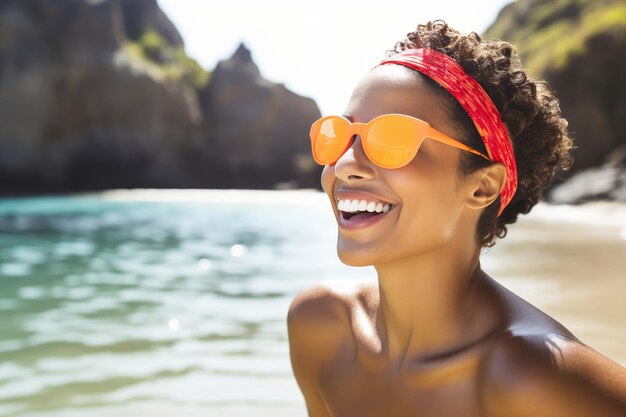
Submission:
<svg viewBox="0 0 626 417">
<path fill-rule="evenodd" d="M 300 292 L 287 314 L 291 367 L 310 417 L 331 417 L 319 381 L 345 332 L 343 304 L 329 287 L 318 284 Z"/>
</svg>

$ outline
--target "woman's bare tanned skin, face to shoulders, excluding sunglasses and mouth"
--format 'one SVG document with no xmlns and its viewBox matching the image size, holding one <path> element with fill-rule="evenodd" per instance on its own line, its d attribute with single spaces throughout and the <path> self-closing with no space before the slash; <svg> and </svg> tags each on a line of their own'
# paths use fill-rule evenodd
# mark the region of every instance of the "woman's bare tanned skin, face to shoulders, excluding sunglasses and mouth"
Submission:
<svg viewBox="0 0 626 417">
<path fill-rule="evenodd" d="M 463 141 L 410 71 L 370 71 L 344 115 L 407 114 Z M 427 139 L 389 170 L 357 136 L 324 168 L 337 220 L 340 188 L 395 207 L 366 228 L 338 230 L 341 261 L 373 265 L 376 282 L 319 284 L 291 303 L 291 363 L 309 416 L 625 417 L 626 369 L 482 271 L 476 225 L 506 174 L 496 163 L 462 177 L 460 152 Z"/>
</svg>

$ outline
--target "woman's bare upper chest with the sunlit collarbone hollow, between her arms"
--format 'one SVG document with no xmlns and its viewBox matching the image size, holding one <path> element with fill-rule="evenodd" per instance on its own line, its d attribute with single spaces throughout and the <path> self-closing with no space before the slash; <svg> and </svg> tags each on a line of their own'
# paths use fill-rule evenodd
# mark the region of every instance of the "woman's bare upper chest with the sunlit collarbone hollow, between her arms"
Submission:
<svg viewBox="0 0 626 417">
<path fill-rule="evenodd" d="M 371 310 L 349 314 L 346 338 L 325 367 L 320 389 L 333 417 L 481 416 L 481 349 L 402 370 L 374 359 L 380 348 Z"/>
</svg>

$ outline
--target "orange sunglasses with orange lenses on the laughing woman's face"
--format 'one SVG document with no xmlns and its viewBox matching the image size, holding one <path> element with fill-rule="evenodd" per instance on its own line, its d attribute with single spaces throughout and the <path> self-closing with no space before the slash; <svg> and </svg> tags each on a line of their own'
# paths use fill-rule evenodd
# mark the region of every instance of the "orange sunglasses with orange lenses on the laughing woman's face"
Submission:
<svg viewBox="0 0 626 417">
<path fill-rule="evenodd" d="M 432 128 L 427 122 L 405 114 L 383 114 L 368 123 L 352 123 L 343 116 L 326 116 L 311 125 L 313 159 L 332 165 L 359 135 L 365 154 L 381 168 L 401 168 L 411 162 L 424 139 L 430 138 L 472 152 L 491 161 L 475 149 Z"/>
</svg>

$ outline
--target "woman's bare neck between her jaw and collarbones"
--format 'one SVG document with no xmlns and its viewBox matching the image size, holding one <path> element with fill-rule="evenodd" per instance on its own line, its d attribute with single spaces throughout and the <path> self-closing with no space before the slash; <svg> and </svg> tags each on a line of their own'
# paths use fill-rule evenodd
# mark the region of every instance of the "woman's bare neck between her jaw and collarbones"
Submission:
<svg viewBox="0 0 626 417">
<path fill-rule="evenodd" d="M 390 366 L 446 357 L 480 341 L 501 325 L 488 302 L 479 250 L 450 245 L 376 265 L 379 303 L 376 329 Z"/>
</svg>

